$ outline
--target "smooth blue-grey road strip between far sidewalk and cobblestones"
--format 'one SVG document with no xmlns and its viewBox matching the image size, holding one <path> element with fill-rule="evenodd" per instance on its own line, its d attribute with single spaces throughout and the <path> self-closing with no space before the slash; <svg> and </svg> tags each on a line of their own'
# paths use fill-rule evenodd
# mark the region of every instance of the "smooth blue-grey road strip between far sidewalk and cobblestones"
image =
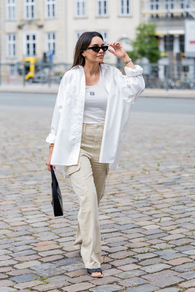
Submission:
<svg viewBox="0 0 195 292">
<path fill-rule="evenodd" d="M 0 92 L 0 105 L 54 108 L 56 94 Z M 138 112 L 195 114 L 195 99 L 140 97 L 132 107 Z"/>
</svg>

